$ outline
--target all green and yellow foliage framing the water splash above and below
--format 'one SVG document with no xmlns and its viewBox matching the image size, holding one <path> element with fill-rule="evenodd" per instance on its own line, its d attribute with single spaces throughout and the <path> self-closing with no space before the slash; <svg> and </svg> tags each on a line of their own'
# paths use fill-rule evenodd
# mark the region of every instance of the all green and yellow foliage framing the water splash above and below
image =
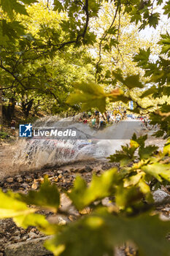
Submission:
<svg viewBox="0 0 170 256">
<path fill-rule="evenodd" d="M 161 50 L 158 50 L 156 60 L 152 59 L 149 47 L 131 53 L 134 58 L 131 63 L 136 68 L 129 74 L 125 65 L 117 66 L 118 69 L 116 66 L 111 69 L 110 66 L 105 70 L 102 61 L 104 52 L 112 53 L 116 49 L 117 60 L 120 59 L 123 64 L 119 41 L 121 16 L 128 17 L 131 26 L 136 24 L 139 31 L 147 26 L 157 28 L 162 12 L 170 16 L 170 1 L 45 1 L 47 12 L 54 8 L 57 21 L 55 18 L 53 23 L 52 20 L 47 23 L 38 20 L 37 31 L 34 31 L 35 27 L 27 31 L 24 25 L 27 26 L 30 21 L 21 16 L 28 15 L 27 5 L 34 6 L 35 2 L 1 0 L 0 68 L 5 93 L 15 91 L 17 97 L 23 100 L 23 105 L 34 99 L 36 93 L 41 98 L 39 100 L 44 94 L 53 96 L 57 102 L 54 102 L 53 108 L 56 104 L 63 106 L 64 102 L 68 106 L 78 105 L 82 110 L 98 108 L 104 112 L 108 102 L 128 103 L 134 99 L 135 91 L 141 90 L 141 99 L 164 97 L 161 105 L 149 109 L 153 124 L 158 123 L 160 127 L 156 135 L 168 140 L 160 151 L 156 146 L 145 146 L 147 136 L 136 138 L 134 135 L 130 145 L 123 146 L 121 151 L 109 157 L 110 161 L 120 162 L 119 170 L 115 168 L 99 177 L 93 176 L 90 184 L 78 176 L 71 191 L 65 193 L 80 213 L 86 207 L 90 211 L 85 217 L 80 215 L 75 222 L 66 226 L 51 225 L 44 216 L 36 214 L 41 207 L 61 213 L 60 193 L 47 178 L 38 192 L 31 191 L 28 195 L 0 192 L 0 217 L 12 217 L 20 227 L 35 225 L 45 234 L 53 234 L 53 239 L 47 241 L 45 246 L 54 255 L 113 255 L 116 246 L 131 241 L 139 255 L 168 256 L 170 244 L 166 235 L 170 231 L 170 222 L 163 222 L 155 214 L 152 190 L 170 182 L 170 36 L 168 33 L 161 35 L 158 42 Z M 93 22 L 101 15 L 104 4 L 112 6 L 112 19 L 97 37 Z M 26 24 L 22 21 L 24 19 Z M 98 45 L 97 61 L 92 56 L 89 58 L 87 50 L 94 44 L 96 49 Z M 59 63 L 57 67 L 56 63 Z M 88 67 L 85 68 L 86 64 Z M 84 74 L 83 78 L 81 73 L 77 75 L 77 66 Z M 69 74 L 71 69 L 72 74 L 75 72 L 71 80 L 61 78 L 63 72 Z M 76 81 L 74 92 L 73 80 Z M 106 85 L 109 89 L 104 88 Z M 63 96 L 61 102 L 59 91 Z M 142 107 L 138 99 L 134 102 L 134 112 L 139 113 Z M 109 206 L 104 206 L 103 199 L 106 197 L 109 197 Z"/>
</svg>

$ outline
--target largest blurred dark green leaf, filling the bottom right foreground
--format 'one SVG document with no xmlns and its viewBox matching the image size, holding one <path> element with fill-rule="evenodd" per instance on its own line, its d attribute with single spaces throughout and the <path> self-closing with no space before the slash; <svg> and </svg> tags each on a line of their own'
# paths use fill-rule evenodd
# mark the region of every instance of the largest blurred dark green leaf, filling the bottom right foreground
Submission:
<svg viewBox="0 0 170 256">
<path fill-rule="evenodd" d="M 170 222 L 163 222 L 158 216 L 125 218 L 96 212 L 64 227 L 45 246 L 54 255 L 80 256 L 83 252 L 83 256 L 112 256 L 115 246 L 132 241 L 139 255 L 169 256 L 170 243 L 165 238 L 169 231 Z"/>
</svg>

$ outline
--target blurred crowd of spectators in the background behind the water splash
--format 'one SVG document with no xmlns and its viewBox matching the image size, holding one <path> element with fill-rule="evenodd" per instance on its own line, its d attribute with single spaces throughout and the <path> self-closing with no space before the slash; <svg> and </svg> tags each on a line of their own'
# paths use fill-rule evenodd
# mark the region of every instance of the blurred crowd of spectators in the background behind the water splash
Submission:
<svg viewBox="0 0 170 256">
<path fill-rule="evenodd" d="M 121 106 L 118 108 L 113 108 L 107 112 L 101 114 L 98 110 L 95 112 L 89 111 L 88 113 L 83 112 L 80 122 L 84 124 L 89 124 L 90 127 L 96 129 L 103 129 L 107 124 L 118 123 L 120 120 L 125 118 L 126 109 Z"/>
</svg>

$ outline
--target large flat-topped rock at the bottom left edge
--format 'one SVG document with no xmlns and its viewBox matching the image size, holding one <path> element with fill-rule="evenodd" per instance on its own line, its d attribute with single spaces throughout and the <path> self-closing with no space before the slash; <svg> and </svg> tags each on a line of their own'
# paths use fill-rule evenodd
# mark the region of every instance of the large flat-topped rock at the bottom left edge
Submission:
<svg viewBox="0 0 170 256">
<path fill-rule="evenodd" d="M 36 238 L 30 241 L 20 242 L 18 244 L 10 244 L 4 250 L 6 256 L 44 256 L 51 252 L 47 251 L 43 246 L 45 240 L 52 238 L 46 236 L 43 238 Z"/>
</svg>

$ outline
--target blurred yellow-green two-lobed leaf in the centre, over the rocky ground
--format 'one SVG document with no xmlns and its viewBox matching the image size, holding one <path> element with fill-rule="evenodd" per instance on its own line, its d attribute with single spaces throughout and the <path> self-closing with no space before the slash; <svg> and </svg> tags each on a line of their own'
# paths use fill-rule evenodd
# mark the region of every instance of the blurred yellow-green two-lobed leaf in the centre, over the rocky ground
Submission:
<svg viewBox="0 0 170 256">
<path fill-rule="evenodd" d="M 99 177 L 93 176 L 89 187 L 80 176 L 77 176 L 72 192 L 68 193 L 74 206 L 78 210 L 82 210 L 95 200 L 109 196 L 113 190 L 113 183 L 117 181 L 116 173 L 117 169 L 114 168 L 106 171 Z"/>
</svg>

